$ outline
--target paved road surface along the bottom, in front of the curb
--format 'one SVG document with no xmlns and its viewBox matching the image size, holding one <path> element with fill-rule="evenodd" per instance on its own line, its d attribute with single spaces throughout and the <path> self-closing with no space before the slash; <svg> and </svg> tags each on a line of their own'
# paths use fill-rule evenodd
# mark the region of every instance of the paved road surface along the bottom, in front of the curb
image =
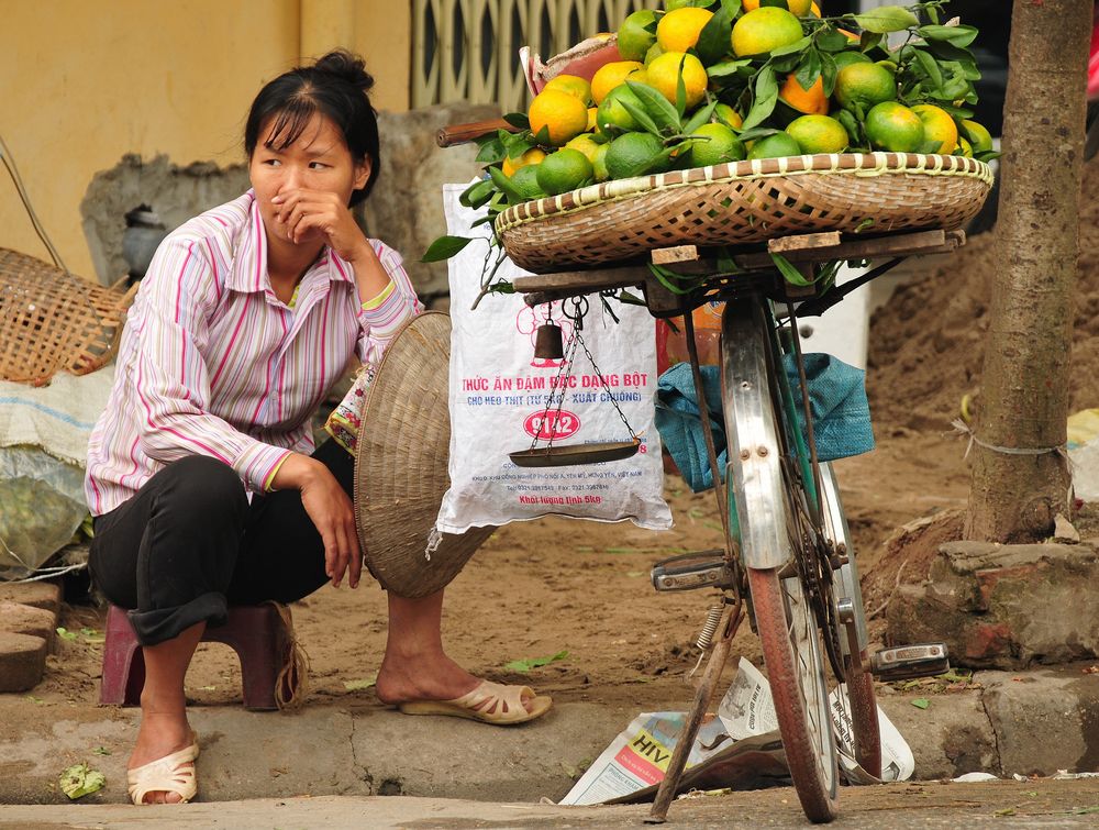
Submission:
<svg viewBox="0 0 1099 830">
<path fill-rule="evenodd" d="M 1099 778 L 977 784 L 890 784 L 845 788 L 843 830 L 874 828 L 1094 828 Z M 623 828 L 642 827 L 647 806 L 556 807 L 402 796 L 257 799 L 184 807 L 43 805 L 0 807 L 0 827 L 232 828 Z M 670 828 L 809 827 L 789 788 L 687 798 L 673 805 Z"/>
</svg>

